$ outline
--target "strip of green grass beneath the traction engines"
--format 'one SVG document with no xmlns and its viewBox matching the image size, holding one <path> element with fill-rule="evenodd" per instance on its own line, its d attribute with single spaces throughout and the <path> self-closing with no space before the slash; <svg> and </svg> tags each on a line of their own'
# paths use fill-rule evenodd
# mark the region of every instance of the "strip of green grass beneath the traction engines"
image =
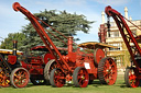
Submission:
<svg viewBox="0 0 141 93">
<path fill-rule="evenodd" d="M 123 75 L 118 75 L 115 85 L 101 85 L 98 80 L 87 88 L 74 88 L 65 85 L 63 88 L 52 88 L 51 85 L 29 84 L 24 89 L 1 88 L 0 93 L 141 93 L 141 88 L 127 88 Z"/>
</svg>

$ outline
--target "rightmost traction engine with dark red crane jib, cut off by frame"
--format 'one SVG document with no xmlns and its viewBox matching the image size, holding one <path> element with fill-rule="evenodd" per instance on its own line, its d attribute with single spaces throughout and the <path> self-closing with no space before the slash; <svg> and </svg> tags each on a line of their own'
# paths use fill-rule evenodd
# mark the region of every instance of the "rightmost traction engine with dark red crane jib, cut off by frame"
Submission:
<svg viewBox="0 0 141 93">
<path fill-rule="evenodd" d="M 105 12 L 108 18 L 113 18 L 131 56 L 131 67 L 128 67 L 124 72 L 126 84 L 127 86 L 137 88 L 141 83 L 141 48 L 138 44 L 138 40 L 141 40 L 141 36 L 134 36 L 134 34 L 129 28 L 127 22 L 131 23 L 133 26 L 135 25 L 127 20 L 124 16 L 122 16 L 118 11 L 113 10 L 111 7 L 106 7 Z M 109 20 L 108 27 L 110 27 Z"/>
</svg>

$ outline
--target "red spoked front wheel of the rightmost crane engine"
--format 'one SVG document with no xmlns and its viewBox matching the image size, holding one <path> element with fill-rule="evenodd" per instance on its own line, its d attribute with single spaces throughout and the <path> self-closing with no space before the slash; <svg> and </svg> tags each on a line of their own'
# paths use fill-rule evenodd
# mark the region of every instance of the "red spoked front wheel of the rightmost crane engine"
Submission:
<svg viewBox="0 0 141 93">
<path fill-rule="evenodd" d="M 137 77 L 137 69 L 135 68 L 127 68 L 124 72 L 124 81 L 127 86 L 129 88 L 137 88 L 140 84 L 140 79 Z"/>
</svg>

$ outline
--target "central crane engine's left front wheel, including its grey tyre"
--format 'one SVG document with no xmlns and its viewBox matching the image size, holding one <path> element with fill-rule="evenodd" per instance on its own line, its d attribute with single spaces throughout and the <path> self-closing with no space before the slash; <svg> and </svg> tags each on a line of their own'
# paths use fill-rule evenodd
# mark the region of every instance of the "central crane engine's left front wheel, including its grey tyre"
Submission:
<svg viewBox="0 0 141 93">
<path fill-rule="evenodd" d="M 65 73 L 61 69 L 53 69 L 50 75 L 50 83 L 54 88 L 62 88 L 66 82 Z"/>
</svg>

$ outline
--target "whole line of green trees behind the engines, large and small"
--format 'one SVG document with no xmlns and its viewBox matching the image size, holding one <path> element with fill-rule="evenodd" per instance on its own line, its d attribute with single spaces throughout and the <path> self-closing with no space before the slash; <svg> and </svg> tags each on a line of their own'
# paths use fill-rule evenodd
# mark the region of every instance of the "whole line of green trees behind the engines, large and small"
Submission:
<svg viewBox="0 0 141 93">
<path fill-rule="evenodd" d="M 44 10 L 40 11 L 40 13 L 34 13 L 34 15 L 65 36 L 76 36 L 77 32 L 84 32 L 88 34 L 90 24 L 94 23 L 94 21 L 87 21 L 86 16 L 83 14 L 72 14 L 66 11 Z M 61 36 L 58 33 L 55 33 L 47 25 L 44 25 L 43 23 L 41 23 L 41 25 L 67 43 L 66 38 Z M 67 47 L 50 33 L 47 34 L 57 47 Z M 31 23 L 22 26 L 22 30 L 19 33 L 9 33 L 8 37 L 1 42 L 0 48 L 12 49 L 12 40 L 18 40 L 18 49 L 22 51 L 37 45 L 44 45 Z M 79 38 L 74 38 L 74 40 L 79 40 Z"/>
</svg>

